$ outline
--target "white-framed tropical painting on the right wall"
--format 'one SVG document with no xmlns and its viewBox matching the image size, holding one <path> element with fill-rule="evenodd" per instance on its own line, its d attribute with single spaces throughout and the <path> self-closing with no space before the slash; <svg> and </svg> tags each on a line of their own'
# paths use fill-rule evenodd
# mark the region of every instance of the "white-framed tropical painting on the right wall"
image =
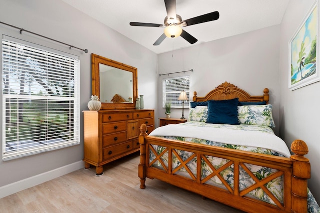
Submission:
<svg viewBox="0 0 320 213">
<path fill-rule="evenodd" d="M 290 90 L 320 81 L 316 63 L 319 40 L 318 21 L 318 0 L 315 0 L 289 40 L 288 87 Z"/>
</svg>

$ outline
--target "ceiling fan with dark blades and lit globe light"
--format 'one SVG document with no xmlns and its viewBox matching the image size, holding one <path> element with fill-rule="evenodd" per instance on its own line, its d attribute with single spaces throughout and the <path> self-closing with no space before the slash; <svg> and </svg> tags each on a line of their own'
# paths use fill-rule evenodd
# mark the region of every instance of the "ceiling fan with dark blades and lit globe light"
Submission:
<svg viewBox="0 0 320 213">
<path fill-rule="evenodd" d="M 151 27 L 165 27 L 164 33 L 153 43 L 159 45 L 165 37 L 175 38 L 181 35 L 190 44 L 197 41 L 195 37 L 183 30 L 182 26 L 190 26 L 193 24 L 203 23 L 207 21 L 216 20 L 219 18 L 219 12 L 209 12 L 207 14 L 199 15 L 193 18 L 182 20 L 181 16 L 176 14 L 175 0 L 164 0 L 167 16 L 164 18 L 164 24 L 157 23 L 143 23 L 143 22 L 130 22 L 131 26 L 151 26 Z"/>
</svg>

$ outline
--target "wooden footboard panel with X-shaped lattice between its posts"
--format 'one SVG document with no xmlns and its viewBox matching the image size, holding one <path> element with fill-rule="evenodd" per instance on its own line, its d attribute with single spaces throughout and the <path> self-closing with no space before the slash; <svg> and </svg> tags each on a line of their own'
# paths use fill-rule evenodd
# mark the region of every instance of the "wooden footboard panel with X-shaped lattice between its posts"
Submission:
<svg viewBox="0 0 320 213">
<path fill-rule="evenodd" d="M 291 196 L 286 196 L 291 194 L 290 159 L 267 155 L 261 158 L 261 154 L 245 151 L 147 138 L 152 140 L 141 144 L 145 177 L 229 206 L 245 200 L 244 208 L 262 205 L 265 212 L 290 212 Z"/>
</svg>

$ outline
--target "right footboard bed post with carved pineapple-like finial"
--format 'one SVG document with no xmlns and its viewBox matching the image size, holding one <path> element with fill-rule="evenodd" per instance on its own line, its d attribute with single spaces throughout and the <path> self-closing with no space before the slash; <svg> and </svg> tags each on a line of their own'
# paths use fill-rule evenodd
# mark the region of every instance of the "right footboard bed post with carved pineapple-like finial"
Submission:
<svg viewBox="0 0 320 213">
<path fill-rule="evenodd" d="M 291 144 L 291 151 L 294 155 L 292 160 L 292 189 L 291 189 L 291 212 L 307 212 L 307 179 L 310 178 L 309 159 L 304 155 L 308 153 L 308 147 L 302 140 L 295 140 Z"/>
</svg>

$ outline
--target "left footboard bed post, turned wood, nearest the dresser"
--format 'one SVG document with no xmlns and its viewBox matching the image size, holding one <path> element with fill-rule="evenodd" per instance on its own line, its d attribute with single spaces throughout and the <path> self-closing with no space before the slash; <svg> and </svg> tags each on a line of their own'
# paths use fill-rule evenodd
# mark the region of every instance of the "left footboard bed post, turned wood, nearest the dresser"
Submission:
<svg viewBox="0 0 320 213">
<path fill-rule="evenodd" d="M 140 126 L 141 133 L 139 134 L 139 144 L 140 144 L 140 163 L 138 167 L 138 176 L 140 178 L 140 189 L 145 188 L 145 144 L 144 144 L 144 136 L 146 134 L 146 125 L 141 124 Z"/>
</svg>

